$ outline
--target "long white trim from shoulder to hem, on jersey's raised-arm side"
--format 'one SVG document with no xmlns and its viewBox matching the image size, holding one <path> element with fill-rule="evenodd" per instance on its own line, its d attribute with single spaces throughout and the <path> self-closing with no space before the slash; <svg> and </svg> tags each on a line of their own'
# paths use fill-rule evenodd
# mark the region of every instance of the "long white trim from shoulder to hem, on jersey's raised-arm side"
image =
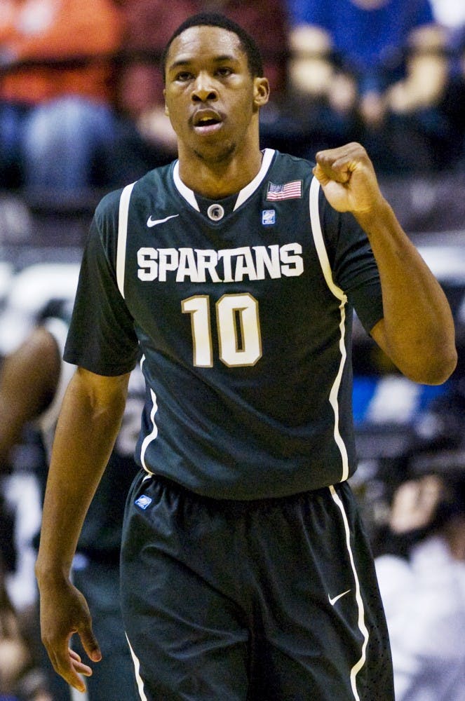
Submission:
<svg viewBox="0 0 465 701">
<path fill-rule="evenodd" d="M 328 285 L 329 289 L 331 290 L 332 294 L 334 294 L 336 299 L 339 299 L 341 301 L 341 304 L 339 305 L 339 311 L 341 313 L 341 322 L 339 323 L 339 329 L 341 332 L 341 335 L 339 337 L 339 351 L 341 353 L 341 362 L 339 363 L 339 370 L 337 371 L 335 381 L 334 383 L 332 383 L 332 388 L 330 391 L 330 404 L 335 415 L 334 437 L 342 458 L 341 482 L 344 482 L 344 479 L 347 479 L 349 477 L 349 456 L 347 455 L 346 445 L 339 431 L 339 402 L 337 400 L 337 397 L 339 395 L 339 388 L 341 386 L 342 373 L 344 372 L 344 366 L 347 360 L 346 345 L 344 343 L 344 337 L 346 332 L 345 306 L 347 302 L 347 297 L 346 294 L 344 294 L 344 291 L 341 290 L 341 288 L 338 287 L 335 281 L 332 279 L 330 260 L 328 258 L 328 252 L 325 246 L 325 239 L 323 238 L 323 231 L 321 230 L 320 208 L 318 203 L 319 192 L 320 183 L 318 182 L 316 177 L 314 177 L 310 183 L 309 204 L 311 233 L 314 237 L 316 252 L 318 254 L 318 260 L 320 261 L 321 270 L 323 271 L 326 284 Z"/>
</svg>

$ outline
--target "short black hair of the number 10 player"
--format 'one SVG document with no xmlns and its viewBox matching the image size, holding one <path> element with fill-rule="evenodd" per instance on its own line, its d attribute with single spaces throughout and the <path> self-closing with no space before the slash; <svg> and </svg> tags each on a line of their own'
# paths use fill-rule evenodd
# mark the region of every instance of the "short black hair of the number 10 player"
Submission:
<svg viewBox="0 0 465 701">
<path fill-rule="evenodd" d="M 237 22 L 230 20 L 224 15 L 220 15 L 219 13 L 201 12 L 196 15 L 192 15 L 191 17 L 187 18 L 187 20 L 184 20 L 184 22 L 182 22 L 182 24 L 175 29 L 175 32 L 173 32 L 168 40 L 160 59 L 163 80 L 165 79 L 166 59 L 168 57 L 170 46 L 173 43 L 173 40 L 182 34 L 182 32 L 184 32 L 186 29 L 189 29 L 189 27 L 220 27 L 221 29 L 227 29 L 228 32 L 236 34 L 239 39 L 239 43 L 241 44 L 241 48 L 247 56 L 247 63 L 252 78 L 261 78 L 263 76 L 262 56 L 260 55 L 260 49 L 258 48 L 257 43 L 255 43 L 255 39 L 252 39 L 252 36 L 250 36 L 250 34 L 246 32 L 241 25 L 238 25 Z"/>
</svg>

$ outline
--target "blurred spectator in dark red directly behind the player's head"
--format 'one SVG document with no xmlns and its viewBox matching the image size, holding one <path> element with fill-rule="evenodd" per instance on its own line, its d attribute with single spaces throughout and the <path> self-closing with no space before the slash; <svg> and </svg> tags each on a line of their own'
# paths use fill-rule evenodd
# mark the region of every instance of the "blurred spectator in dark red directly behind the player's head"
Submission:
<svg viewBox="0 0 465 701">
<path fill-rule="evenodd" d="M 163 158 L 168 162 L 176 155 L 175 134 L 165 115 L 159 57 L 171 34 L 190 15 L 202 11 L 219 12 L 242 25 L 255 36 L 262 51 L 264 72 L 271 83 L 274 102 L 283 93 L 288 37 L 283 1 L 120 0 L 120 4 L 126 15 L 127 34 L 123 44 L 126 64 L 120 76 L 119 107 L 123 115 L 137 125 L 149 147 L 148 150 L 144 144 L 139 147 L 139 175 L 160 165 Z M 267 108 L 269 112 L 274 109 L 273 100 Z M 130 129 L 130 123 L 127 126 Z M 135 155 L 137 139 L 134 135 L 131 137 L 130 132 L 128 138 L 132 142 L 127 149 L 130 158 L 131 148 Z M 124 164 L 121 167 L 124 168 Z"/>
</svg>

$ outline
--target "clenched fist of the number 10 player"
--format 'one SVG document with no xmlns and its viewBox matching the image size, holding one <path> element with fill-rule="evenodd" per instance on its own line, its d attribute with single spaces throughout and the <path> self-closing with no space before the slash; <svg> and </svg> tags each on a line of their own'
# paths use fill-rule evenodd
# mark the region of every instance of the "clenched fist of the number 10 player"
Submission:
<svg viewBox="0 0 465 701">
<path fill-rule="evenodd" d="M 384 202 L 375 169 L 367 152 L 355 142 L 337 149 L 318 151 L 314 176 L 338 212 L 375 212 Z"/>
</svg>

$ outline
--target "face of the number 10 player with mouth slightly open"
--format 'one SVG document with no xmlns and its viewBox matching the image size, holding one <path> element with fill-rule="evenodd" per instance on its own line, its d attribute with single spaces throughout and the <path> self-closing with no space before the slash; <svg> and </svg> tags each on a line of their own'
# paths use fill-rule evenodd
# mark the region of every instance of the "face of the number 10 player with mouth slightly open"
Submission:
<svg viewBox="0 0 465 701">
<path fill-rule="evenodd" d="M 215 162 L 252 147 L 268 95 L 267 79 L 252 78 L 233 32 L 189 27 L 171 44 L 165 100 L 180 156 Z"/>
</svg>

